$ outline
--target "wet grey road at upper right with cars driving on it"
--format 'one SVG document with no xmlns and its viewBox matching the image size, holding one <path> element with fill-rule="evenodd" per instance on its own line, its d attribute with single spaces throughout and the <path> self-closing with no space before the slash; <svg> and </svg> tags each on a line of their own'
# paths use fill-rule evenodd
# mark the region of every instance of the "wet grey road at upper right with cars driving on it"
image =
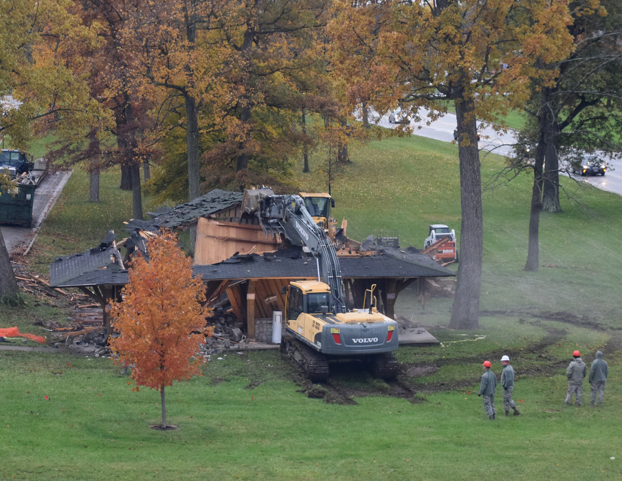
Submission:
<svg viewBox="0 0 622 481">
<path fill-rule="evenodd" d="M 435 140 L 442 140 L 444 142 L 453 141 L 453 129 L 456 128 L 456 115 L 455 113 L 447 113 L 445 117 L 435 120 L 430 125 L 426 125 L 425 113 L 427 111 L 422 110 L 422 117 L 424 120 L 420 122 L 411 121 L 412 128 L 415 135 L 422 137 L 433 138 Z M 396 124 L 389 123 L 388 115 L 380 118 L 378 125 L 386 128 L 395 128 Z M 506 133 L 496 132 L 491 127 L 482 128 L 481 140 L 479 142 L 480 150 L 490 151 L 499 155 L 509 155 L 512 150 L 512 146 L 516 143 L 516 137 L 514 131 L 508 130 Z M 622 158 L 615 158 L 608 161 L 610 169 L 605 176 L 572 176 L 579 182 L 587 182 L 593 186 L 610 191 L 616 194 L 622 195 Z"/>
</svg>

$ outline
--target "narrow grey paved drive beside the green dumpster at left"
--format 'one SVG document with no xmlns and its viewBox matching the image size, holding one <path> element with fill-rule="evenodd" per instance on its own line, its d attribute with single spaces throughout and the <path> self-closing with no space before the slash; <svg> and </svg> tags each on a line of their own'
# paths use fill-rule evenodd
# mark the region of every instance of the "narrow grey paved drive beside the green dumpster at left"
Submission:
<svg viewBox="0 0 622 481">
<path fill-rule="evenodd" d="M 35 199 L 32 206 L 32 227 L 0 227 L 2 229 L 2 237 L 4 237 L 4 245 L 6 245 L 6 249 L 9 252 L 17 245 L 25 245 L 27 242 L 30 242 L 34 232 L 39 230 L 41 223 L 52 210 L 71 174 L 71 172 L 67 171 L 49 174 L 39 184 L 35 190 Z"/>
</svg>

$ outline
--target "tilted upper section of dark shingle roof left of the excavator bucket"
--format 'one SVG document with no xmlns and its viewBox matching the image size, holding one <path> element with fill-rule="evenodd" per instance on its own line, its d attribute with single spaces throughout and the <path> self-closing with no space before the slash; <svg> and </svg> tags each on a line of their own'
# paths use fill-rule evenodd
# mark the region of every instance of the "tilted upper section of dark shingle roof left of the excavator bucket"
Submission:
<svg viewBox="0 0 622 481">
<path fill-rule="evenodd" d="M 185 204 L 179 204 L 175 207 L 160 207 L 156 212 L 147 212 L 153 217 L 153 220 L 132 219 L 128 222 L 126 231 L 142 229 L 157 232 L 159 227 L 179 227 L 183 224 L 191 224 L 198 217 L 209 216 L 239 204 L 242 201 L 242 196 L 241 192 L 214 189 Z"/>
</svg>

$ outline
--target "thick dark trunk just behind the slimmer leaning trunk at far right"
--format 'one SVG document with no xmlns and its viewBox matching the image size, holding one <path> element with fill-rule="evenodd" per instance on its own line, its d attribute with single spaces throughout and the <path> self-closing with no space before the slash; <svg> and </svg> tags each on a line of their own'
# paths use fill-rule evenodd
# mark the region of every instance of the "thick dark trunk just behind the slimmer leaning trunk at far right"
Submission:
<svg viewBox="0 0 622 481">
<path fill-rule="evenodd" d="M 554 92 L 545 89 L 544 100 L 546 115 L 545 139 L 546 151 L 544 158 L 544 193 L 542 195 L 542 209 L 547 212 L 562 212 L 559 202 L 559 123 L 557 108 L 554 105 Z"/>
</svg>

